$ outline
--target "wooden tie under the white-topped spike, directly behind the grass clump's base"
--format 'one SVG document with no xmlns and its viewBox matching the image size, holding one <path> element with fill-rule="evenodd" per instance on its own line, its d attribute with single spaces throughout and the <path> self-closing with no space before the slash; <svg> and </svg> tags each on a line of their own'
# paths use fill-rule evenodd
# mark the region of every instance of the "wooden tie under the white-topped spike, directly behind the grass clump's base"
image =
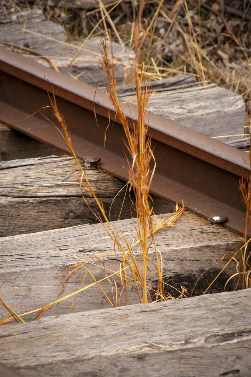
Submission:
<svg viewBox="0 0 251 377">
<path fill-rule="evenodd" d="M 167 217 L 171 214 L 166 215 Z M 107 227 L 107 226 L 106 226 Z M 118 237 L 123 232 L 129 244 L 136 239 L 133 220 L 112 222 L 112 227 Z M 122 238 L 120 238 L 122 242 Z M 123 242 L 122 242 L 123 243 Z M 202 294 L 213 281 L 214 277 L 225 266 L 229 257 L 243 245 L 243 238 L 222 227 L 211 225 L 208 221 L 191 213 L 184 213 L 180 221 L 173 228 L 167 228 L 156 233 L 156 243 L 162 251 L 164 281 L 174 286 L 179 291 L 181 285 L 191 294 Z M 19 236 L 4 237 L 0 239 L 1 263 L 3 271 L 1 284 L 5 280 L 1 298 L 10 306 L 17 307 L 18 314 L 35 310 L 57 300 L 63 289 L 61 281 L 70 272 L 69 267 L 85 261 L 96 262 L 88 264 L 93 276 L 99 280 L 105 277 L 103 260 L 107 273 L 119 271 L 121 253 L 115 249 L 113 241 L 107 236 L 101 224 L 80 225 L 76 227 L 44 231 L 40 233 L 22 234 Z M 135 257 L 139 248 L 133 248 Z M 224 257 L 223 261 L 221 259 Z M 155 251 L 150 249 L 148 256 L 156 261 Z M 64 268 L 63 268 L 64 267 Z M 150 267 L 153 272 L 156 272 Z M 84 267 L 75 271 L 64 291 L 66 294 L 77 291 L 86 273 Z M 236 264 L 233 262 L 220 275 L 216 283 L 210 288 L 209 293 L 219 292 L 224 289 L 228 277 L 236 273 Z M 148 274 L 148 282 L 153 288 L 157 282 L 152 274 Z M 93 283 L 92 277 L 86 277 L 83 286 Z M 118 291 L 122 290 L 121 281 L 117 279 Z M 104 291 L 113 300 L 112 287 L 105 280 L 101 283 Z M 228 285 L 228 289 L 233 284 Z M 132 288 L 129 290 L 129 303 L 137 303 L 138 299 Z M 167 286 L 166 291 L 178 297 L 179 293 Z M 61 307 L 56 305 L 47 313 L 63 314 L 70 310 L 73 298 L 61 302 Z M 73 311 L 84 311 L 102 308 L 101 301 L 105 297 L 97 286 L 88 288 L 78 294 L 73 306 Z M 106 303 L 105 303 L 106 304 Z M 125 297 L 121 305 L 125 304 Z M 109 305 L 106 304 L 106 307 Z M 1 318 L 8 315 L 2 308 Z M 25 319 L 24 319 L 25 320 Z"/>
</svg>

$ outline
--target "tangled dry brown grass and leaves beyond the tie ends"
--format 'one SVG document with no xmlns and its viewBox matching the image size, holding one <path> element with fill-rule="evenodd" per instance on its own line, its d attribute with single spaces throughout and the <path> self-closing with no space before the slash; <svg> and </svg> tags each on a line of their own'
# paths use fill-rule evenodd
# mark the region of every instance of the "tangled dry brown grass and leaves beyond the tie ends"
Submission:
<svg viewBox="0 0 251 377">
<path fill-rule="evenodd" d="M 69 40 L 106 36 L 131 49 L 135 64 L 144 59 L 147 78 L 185 72 L 242 95 L 249 133 L 250 0 L 6 0 L 0 12 L 34 5 L 47 20 L 63 25 Z M 141 29 L 135 37 L 138 15 Z"/>
</svg>

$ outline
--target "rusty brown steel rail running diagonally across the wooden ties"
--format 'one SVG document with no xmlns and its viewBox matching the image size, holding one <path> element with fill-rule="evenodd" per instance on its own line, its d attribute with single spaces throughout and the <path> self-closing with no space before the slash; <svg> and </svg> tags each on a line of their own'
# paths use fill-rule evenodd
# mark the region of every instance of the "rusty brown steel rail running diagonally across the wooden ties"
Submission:
<svg viewBox="0 0 251 377">
<path fill-rule="evenodd" d="M 95 88 L 0 48 L 0 121 L 69 153 L 55 127 L 37 112 L 50 104 L 52 87 L 77 156 L 89 161 L 101 159 L 98 165 L 102 170 L 127 181 L 124 132 L 107 95 L 101 90 L 95 95 Z M 127 118 L 135 121 L 136 106 L 122 107 Z M 43 112 L 55 120 L 51 109 Z M 104 147 L 109 113 L 112 121 Z M 250 176 L 248 154 L 153 113 L 148 132 L 156 159 L 151 192 L 170 202 L 181 204 L 183 200 L 189 211 L 205 219 L 228 218 L 223 225 L 243 234 L 246 211 L 239 179 Z"/>
</svg>

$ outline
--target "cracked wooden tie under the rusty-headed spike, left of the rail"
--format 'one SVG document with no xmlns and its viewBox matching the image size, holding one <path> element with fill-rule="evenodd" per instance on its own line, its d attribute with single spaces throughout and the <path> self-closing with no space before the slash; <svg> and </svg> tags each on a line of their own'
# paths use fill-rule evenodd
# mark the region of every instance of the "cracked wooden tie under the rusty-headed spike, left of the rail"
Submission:
<svg viewBox="0 0 251 377">
<path fill-rule="evenodd" d="M 69 156 L 0 162 L 0 236 L 98 222 L 84 203 L 80 182 L 71 173 L 76 169 L 72 163 L 76 165 Z M 121 219 L 132 218 L 130 186 L 126 190 L 120 179 L 81 164 L 108 218 L 117 220 L 120 211 Z M 78 173 L 81 177 L 80 170 Z M 95 200 L 85 197 L 92 210 L 97 210 Z M 153 199 L 156 214 L 174 211 L 173 204 L 156 196 Z"/>
</svg>

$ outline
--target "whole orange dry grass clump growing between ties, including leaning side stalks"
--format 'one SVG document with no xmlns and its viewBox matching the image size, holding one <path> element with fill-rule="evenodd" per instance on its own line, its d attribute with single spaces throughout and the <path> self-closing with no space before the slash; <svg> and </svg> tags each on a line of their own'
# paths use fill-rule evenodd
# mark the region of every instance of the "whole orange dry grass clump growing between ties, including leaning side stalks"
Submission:
<svg viewBox="0 0 251 377">
<path fill-rule="evenodd" d="M 58 304 L 63 300 L 69 299 L 73 296 L 75 296 L 76 298 L 78 293 L 86 290 L 87 288 L 91 288 L 93 285 L 98 285 L 102 292 L 102 296 L 106 297 L 106 302 L 109 303 L 112 307 L 120 305 L 122 296 L 125 297 L 127 305 L 130 303 L 128 287 L 133 288 L 136 296 L 138 297 L 139 303 L 174 299 L 174 297 L 168 294 L 167 289 L 165 288 L 165 283 L 162 279 L 162 256 L 161 250 L 158 249 L 158 245 L 156 244 L 155 233 L 166 227 L 174 226 L 174 223 L 183 213 L 184 208 L 178 208 L 177 205 L 174 215 L 169 219 L 164 219 L 162 216 L 157 218 L 153 212 L 153 200 L 150 196 L 149 190 L 155 172 L 155 158 L 151 149 L 151 137 L 147 132 L 147 102 L 151 95 L 150 88 L 148 87 L 147 83 L 142 86 L 142 76 L 141 74 L 137 74 L 137 69 L 137 72 L 135 73 L 135 83 L 138 117 L 137 121 L 130 123 L 130 121 L 126 118 L 122 111 L 121 103 L 119 102 L 116 94 L 116 80 L 114 76 L 114 70 L 109 63 L 105 42 L 102 42 L 102 47 L 103 49 L 101 63 L 103 65 L 104 71 L 109 77 L 109 80 L 105 81 L 106 89 L 110 102 L 112 103 L 112 106 L 116 111 L 116 116 L 122 123 L 122 127 L 126 136 L 125 148 L 129 152 L 130 156 L 127 159 L 127 169 L 129 172 L 129 183 L 136 198 L 135 203 L 132 204 L 135 238 L 132 242 L 128 241 L 127 235 L 124 234 L 122 230 L 113 230 L 113 225 L 107 217 L 102 202 L 100 202 L 97 198 L 95 192 L 92 189 L 92 186 L 90 185 L 86 172 L 82 169 L 81 164 L 79 163 L 78 158 L 75 155 L 70 137 L 69 127 L 67 126 L 64 116 L 60 113 L 60 110 L 57 107 L 55 95 L 53 93 L 52 97 L 50 98 L 51 107 L 60 124 L 60 126 L 57 126 L 55 124 L 55 127 L 57 127 L 61 136 L 66 141 L 66 144 L 69 147 L 73 157 L 75 158 L 76 166 L 74 166 L 75 171 L 73 174 L 80 181 L 81 192 L 83 194 L 83 199 L 86 205 L 89 207 L 89 204 L 86 201 L 86 195 L 91 196 L 93 199 L 95 199 L 95 202 L 98 205 L 99 210 L 93 211 L 93 214 L 106 229 L 107 236 L 109 236 L 109 238 L 113 241 L 114 256 L 116 256 L 116 259 L 120 261 L 119 269 L 117 271 L 110 271 L 105 267 L 103 259 L 107 258 L 111 254 L 103 254 L 102 257 L 97 256 L 97 261 L 103 263 L 104 271 L 104 278 L 97 281 L 90 270 L 90 265 L 93 262 L 86 261 L 83 263 L 77 263 L 72 267 L 72 270 L 64 280 L 63 284 L 65 289 L 74 271 L 79 268 L 83 268 L 85 272 L 83 274 L 83 281 L 78 291 L 61 297 L 60 299 L 55 300 L 54 302 L 46 305 L 43 308 L 38 308 L 37 310 L 20 314 L 19 316 L 10 308 L 8 309 L 8 306 L 5 305 L 6 309 L 9 310 L 10 316 L 6 317 L 0 322 L 0 324 L 2 325 L 12 322 L 14 319 L 19 319 L 24 322 L 22 317 L 30 315 L 32 313 L 37 313 L 35 319 L 39 319 L 40 316 L 47 310 L 49 310 L 53 305 Z M 41 112 L 41 110 L 39 111 Z M 80 169 L 80 174 L 78 174 L 77 169 Z M 92 208 L 90 208 L 90 210 L 92 210 Z M 139 253 L 135 253 L 136 247 L 139 247 Z M 155 250 L 156 262 L 148 256 L 148 251 L 152 248 Z M 149 284 L 149 275 L 158 282 L 157 288 L 153 288 Z M 86 276 L 90 276 L 93 279 L 93 283 L 82 287 L 85 282 Z M 118 291 L 118 285 L 115 278 L 119 279 L 122 284 L 122 290 L 120 292 Z M 100 283 L 104 280 L 108 280 L 112 285 L 113 297 L 111 298 L 108 296 L 108 294 L 106 294 L 106 292 L 100 285 Z M 64 292 L 64 289 L 62 291 L 62 294 Z M 179 292 L 178 298 L 184 297 L 185 293 L 185 287 L 182 287 L 182 290 Z M 75 298 L 72 305 L 74 304 Z"/>
</svg>

